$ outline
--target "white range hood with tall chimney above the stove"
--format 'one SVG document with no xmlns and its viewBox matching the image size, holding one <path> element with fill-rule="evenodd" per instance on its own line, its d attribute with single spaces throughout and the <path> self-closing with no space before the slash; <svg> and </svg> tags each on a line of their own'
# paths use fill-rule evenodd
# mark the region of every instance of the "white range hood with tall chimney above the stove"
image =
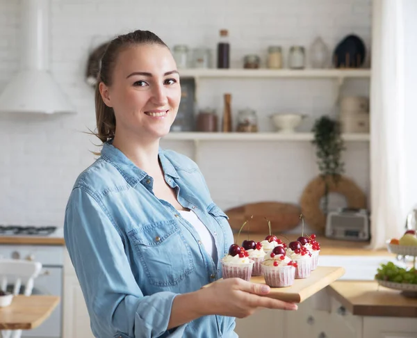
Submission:
<svg viewBox="0 0 417 338">
<path fill-rule="evenodd" d="M 21 66 L 0 94 L 0 113 L 75 113 L 49 72 L 49 0 L 21 5 Z"/>
</svg>

